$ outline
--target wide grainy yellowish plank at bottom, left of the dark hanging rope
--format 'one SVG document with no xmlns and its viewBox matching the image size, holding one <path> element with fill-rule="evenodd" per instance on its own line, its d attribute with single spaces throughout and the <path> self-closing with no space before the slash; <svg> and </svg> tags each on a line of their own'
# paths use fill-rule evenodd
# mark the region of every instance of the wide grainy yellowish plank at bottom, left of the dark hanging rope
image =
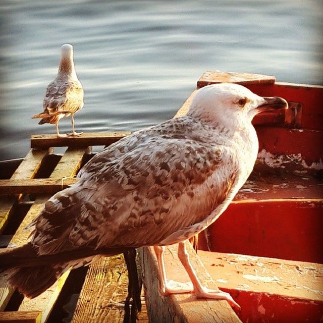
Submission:
<svg viewBox="0 0 323 323">
<path fill-rule="evenodd" d="M 94 261 L 73 315 L 72 323 L 123 322 L 128 274 L 123 255 L 101 257 Z M 138 313 L 140 322 L 148 322 L 145 309 Z"/>
</svg>

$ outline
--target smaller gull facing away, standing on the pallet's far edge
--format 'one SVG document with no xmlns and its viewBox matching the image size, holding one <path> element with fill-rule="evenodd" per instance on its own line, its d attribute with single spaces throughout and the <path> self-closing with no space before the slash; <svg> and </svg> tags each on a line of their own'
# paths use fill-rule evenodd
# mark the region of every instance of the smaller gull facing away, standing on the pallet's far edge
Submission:
<svg viewBox="0 0 323 323">
<path fill-rule="evenodd" d="M 62 56 L 59 72 L 55 80 L 48 84 L 46 94 L 43 100 L 44 112 L 31 117 L 42 118 L 39 125 L 51 123 L 56 125 L 58 137 L 66 137 L 66 134 L 60 134 L 59 121 L 62 118 L 71 115 L 72 133 L 71 136 L 77 136 L 81 133 L 75 131 L 74 114 L 82 109 L 83 87 L 77 78 L 73 62 L 73 46 L 64 44 L 62 46 Z"/>
</svg>

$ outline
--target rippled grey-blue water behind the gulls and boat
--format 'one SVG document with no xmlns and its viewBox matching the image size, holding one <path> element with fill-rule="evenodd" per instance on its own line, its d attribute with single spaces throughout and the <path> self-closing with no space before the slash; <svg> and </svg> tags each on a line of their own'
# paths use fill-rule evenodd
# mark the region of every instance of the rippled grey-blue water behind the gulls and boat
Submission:
<svg viewBox="0 0 323 323">
<path fill-rule="evenodd" d="M 171 118 L 205 70 L 322 82 L 317 1 L 0 2 L 0 159 L 21 157 L 34 133 L 60 47 L 74 45 L 85 89 L 77 130 L 137 130 Z M 60 122 L 70 131 L 70 119 Z"/>
</svg>

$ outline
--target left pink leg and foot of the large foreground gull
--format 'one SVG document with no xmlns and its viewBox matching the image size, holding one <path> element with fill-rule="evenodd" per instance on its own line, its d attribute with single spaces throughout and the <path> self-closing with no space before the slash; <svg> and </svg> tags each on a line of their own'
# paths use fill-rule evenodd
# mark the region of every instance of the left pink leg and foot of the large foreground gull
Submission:
<svg viewBox="0 0 323 323">
<path fill-rule="evenodd" d="M 193 287 L 191 284 L 175 282 L 173 280 L 167 281 L 164 255 L 163 255 L 165 251 L 165 247 L 154 246 L 153 248 L 157 257 L 161 293 L 163 295 L 177 294 L 177 293 L 192 293 Z"/>
</svg>

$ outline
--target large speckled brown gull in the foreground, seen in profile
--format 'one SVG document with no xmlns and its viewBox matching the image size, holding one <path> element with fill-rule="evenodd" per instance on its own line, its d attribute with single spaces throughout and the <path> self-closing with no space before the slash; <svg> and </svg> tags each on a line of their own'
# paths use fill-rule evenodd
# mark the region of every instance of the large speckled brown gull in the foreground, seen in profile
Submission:
<svg viewBox="0 0 323 323">
<path fill-rule="evenodd" d="M 31 242 L 0 255 L 1 270 L 28 297 L 65 271 L 97 255 L 154 246 L 164 294 L 187 292 L 168 282 L 163 252 L 178 243 L 197 297 L 232 297 L 201 285 L 185 240 L 216 221 L 251 173 L 258 151 L 252 118 L 285 109 L 279 97 L 260 97 L 236 84 L 198 90 L 187 116 L 134 132 L 97 153 L 72 187 L 46 203 Z"/>
</svg>

